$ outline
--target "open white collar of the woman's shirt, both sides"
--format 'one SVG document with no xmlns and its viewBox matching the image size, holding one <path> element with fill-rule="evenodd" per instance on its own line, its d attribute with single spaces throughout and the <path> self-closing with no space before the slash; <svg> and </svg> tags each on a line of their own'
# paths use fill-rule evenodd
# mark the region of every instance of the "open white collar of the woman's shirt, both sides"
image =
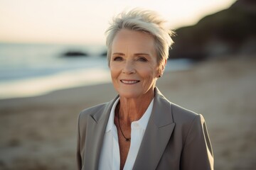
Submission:
<svg viewBox="0 0 256 170">
<path fill-rule="evenodd" d="M 114 127 L 114 110 L 117 106 L 117 103 L 119 102 L 120 98 L 117 98 L 116 101 L 114 101 L 114 104 L 111 108 L 110 111 L 110 118 L 107 122 L 107 127 L 105 132 L 109 132 L 110 130 L 112 130 L 112 128 Z M 152 99 L 151 103 L 149 104 L 149 107 L 146 109 L 145 113 L 142 115 L 142 118 L 140 118 L 137 121 L 134 121 L 134 123 L 138 123 L 140 127 L 142 127 L 144 130 L 146 130 L 146 125 L 149 122 L 149 117 L 151 115 L 152 112 L 152 108 L 153 108 L 153 103 L 154 103 L 154 98 Z"/>
</svg>

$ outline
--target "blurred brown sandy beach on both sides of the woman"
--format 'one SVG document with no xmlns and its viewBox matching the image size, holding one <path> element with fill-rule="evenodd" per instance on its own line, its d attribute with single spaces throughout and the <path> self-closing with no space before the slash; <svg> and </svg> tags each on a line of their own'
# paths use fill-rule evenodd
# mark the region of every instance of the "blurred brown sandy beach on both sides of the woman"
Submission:
<svg viewBox="0 0 256 170">
<path fill-rule="evenodd" d="M 157 86 L 206 119 L 215 169 L 255 169 L 256 59 L 232 56 L 166 72 Z M 76 123 L 82 109 L 110 101 L 112 84 L 0 100 L 0 169 L 76 169 Z"/>
</svg>

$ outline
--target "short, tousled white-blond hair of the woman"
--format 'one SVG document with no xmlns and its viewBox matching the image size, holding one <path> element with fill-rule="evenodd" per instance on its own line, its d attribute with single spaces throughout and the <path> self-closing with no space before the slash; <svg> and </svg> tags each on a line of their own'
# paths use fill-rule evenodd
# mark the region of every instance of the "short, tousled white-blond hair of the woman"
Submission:
<svg viewBox="0 0 256 170">
<path fill-rule="evenodd" d="M 114 36 L 122 29 L 142 31 L 152 35 L 156 47 L 157 63 L 161 64 L 161 62 L 167 60 L 169 57 L 169 47 L 171 47 L 174 41 L 171 39 L 173 32 L 171 29 L 166 29 L 164 23 L 166 21 L 155 11 L 134 8 L 129 12 L 119 13 L 119 15 L 113 18 L 110 27 L 105 32 L 107 35 L 108 64 L 110 65 Z"/>
</svg>

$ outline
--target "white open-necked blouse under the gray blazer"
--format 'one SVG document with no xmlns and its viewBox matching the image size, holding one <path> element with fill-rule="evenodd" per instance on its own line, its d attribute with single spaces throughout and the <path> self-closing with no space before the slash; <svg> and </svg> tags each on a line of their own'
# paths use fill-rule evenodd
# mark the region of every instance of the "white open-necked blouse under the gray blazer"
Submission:
<svg viewBox="0 0 256 170">
<path fill-rule="evenodd" d="M 110 112 L 110 118 L 107 122 L 105 130 L 102 150 L 100 153 L 99 169 L 100 170 L 119 170 L 120 168 L 120 154 L 119 143 L 117 136 L 117 127 L 114 125 L 114 110 L 117 106 L 119 98 L 114 102 Z M 135 159 L 137 157 L 139 147 L 142 143 L 142 138 L 146 130 L 146 125 L 149 122 L 149 117 L 152 112 L 154 98 L 152 99 L 149 107 L 146 109 L 142 118 L 132 122 L 131 128 L 131 145 L 127 155 L 127 160 L 124 164 L 124 170 L 132 169 Z"/>
</svg>

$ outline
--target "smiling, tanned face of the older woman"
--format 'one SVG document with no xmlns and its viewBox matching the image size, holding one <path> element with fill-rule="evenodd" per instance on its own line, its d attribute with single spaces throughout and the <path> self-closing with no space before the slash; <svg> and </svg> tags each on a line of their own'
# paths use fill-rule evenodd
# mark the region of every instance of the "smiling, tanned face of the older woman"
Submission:
<svg viewBox="0 0 256 170">
<path fill-rule="evenodd" d="M 154 95 L 159 77 L 154 38 L 134 30 L 120 30 L 112 42 L 110 72 L 120 97 Z"/>
</svg>

